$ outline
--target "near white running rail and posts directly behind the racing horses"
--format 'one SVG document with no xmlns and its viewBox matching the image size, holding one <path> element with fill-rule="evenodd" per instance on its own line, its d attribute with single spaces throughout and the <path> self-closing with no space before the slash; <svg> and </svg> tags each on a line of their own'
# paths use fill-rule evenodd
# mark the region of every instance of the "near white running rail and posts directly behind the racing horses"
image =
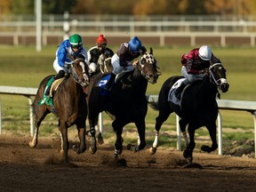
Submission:
<svg viewBox="0 0 256 192">
<path fill-rule="evenodd" d="M 23 95 L 28 97 L 29 102 L 29 116 L 30 116 L 30 133 L 33 136 L 34 133 L 34 116 L 33 116 L 33 101 L 31 96 L 35 96 L 37 88 L 31 87 L 16 87 L 16 86 L 0 86 L 0 94 L 12 94 L 12 95 Z M 147 95 L 148 103 L 157 102 L 157 95 Z M 219 109 L 226 110 L 243 110 L 248 111 L 253 116 L 254 121 L 254 148 L 256 157 L 256 101 L 246 101 L 246 100 L 217 100 Z M 2 132 L 2 108 L 0 100 L 0 133 Z M 176 129 L 177 129 L 177 149 L 181 150 L 180 144 L 180 125 L 179 116 L 176 116 Z M 103 119 L 102 114 L 100 114 L 100 129 L 102 129 Z M 222 155 L 222 118 L 219 110 L 218 116 L 218 142 L 219 142 L 219 155 Z"/>
</svg>

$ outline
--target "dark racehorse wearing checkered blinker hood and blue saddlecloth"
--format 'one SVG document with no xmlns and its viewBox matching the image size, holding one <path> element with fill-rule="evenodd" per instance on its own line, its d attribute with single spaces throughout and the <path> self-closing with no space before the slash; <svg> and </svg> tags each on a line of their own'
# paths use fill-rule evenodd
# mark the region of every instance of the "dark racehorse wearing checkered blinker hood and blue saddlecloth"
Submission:
<svg viewBox="0 0 256 192">
<path fill-rule="evenodd" d="M 124 73 L 121 79 L 116 81 L 112 89 L 107 92 L 100 87 L 100 79 L 106 74 L 99 74 L 97 78 L 91 79 L 91 96 L 89 98 L 89 124 L 92 135 L 90 150 L 96 153 L 95 125 L 98 123 L 100 112 L 107 111 L 115 116 L 112 122 L 116 132 L 115 156 L 122 154 L 124 125 L 134 123 L 139 132 L 140 144 L 138 146 L 129 144 L 128 149 L 137 152 L 146 147 L 145 140 L 145 116 L 148 111 L 146 91 L 148 82 L 156 84 L 159 76 L 156 59 L 153 57 L 153 50 L 145 52 L 140 56 L 140 61 L 130 72 Z M 109 76 L 109 75 L 108 75 Z M 106 84 L 106 82 L 105 82 Z"/>
</svg>

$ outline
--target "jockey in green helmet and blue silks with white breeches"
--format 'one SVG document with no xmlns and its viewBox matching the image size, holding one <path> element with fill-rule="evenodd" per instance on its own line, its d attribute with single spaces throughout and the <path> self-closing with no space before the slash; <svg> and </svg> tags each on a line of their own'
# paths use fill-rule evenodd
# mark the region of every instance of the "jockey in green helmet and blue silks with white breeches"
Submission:
<svg viewBox="0 0 256 192">
<path fill-rule="evenodd" d="M 69 39 L 63 41 L 57 49 L 56 59 L 53 61 L 53 68 L 57 72 L 57 75 L 54 76 L 53 81 L 65 76 L 68 72 L 65 62 L 71 62 L 74 56 L 82 57 L 87 63 L 87 52 L 83 46 L 82 37 L 77 34 L 74 34 L 73 36 L 70 36 Z M 49 96 L 50 88 L 51 86 L 47 88 L 45 96 Z"/>
</svg>

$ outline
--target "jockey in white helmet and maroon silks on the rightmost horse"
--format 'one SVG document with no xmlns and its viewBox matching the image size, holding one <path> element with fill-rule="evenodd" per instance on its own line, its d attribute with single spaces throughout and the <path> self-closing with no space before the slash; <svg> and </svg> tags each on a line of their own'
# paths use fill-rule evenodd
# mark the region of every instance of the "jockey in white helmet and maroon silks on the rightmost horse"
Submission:
<svg viewBox="0 0 256 192">
<path fill-rule="evenodd" d="M 211 63 L 220 62 L 216 58 L 212 49 L 208 45 L 203 45 L 200 48 L 191 50 L 181 57 L 181 74 L 186 78 L 175 91 L 175 96 L 180 99 L 180 93 L 187 84 L 191 84 L 196 80 L 203 79 L 207 68 Z"/>
</svg>

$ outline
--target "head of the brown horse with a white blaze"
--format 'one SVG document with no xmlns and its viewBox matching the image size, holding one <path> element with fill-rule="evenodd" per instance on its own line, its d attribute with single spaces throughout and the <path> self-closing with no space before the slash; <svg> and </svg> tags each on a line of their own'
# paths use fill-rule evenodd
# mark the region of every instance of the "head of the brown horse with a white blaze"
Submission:
<svg viewBox="0 0 256 192">
<path fill-rule="evenodd" d="M 83 58 L 78 58 L 76 60 L 68 63 L 70 65 L 70 74 L 74 77 L 76 83 L 83 87 L 89 85 L 89 69 Z"/>
</svg>

